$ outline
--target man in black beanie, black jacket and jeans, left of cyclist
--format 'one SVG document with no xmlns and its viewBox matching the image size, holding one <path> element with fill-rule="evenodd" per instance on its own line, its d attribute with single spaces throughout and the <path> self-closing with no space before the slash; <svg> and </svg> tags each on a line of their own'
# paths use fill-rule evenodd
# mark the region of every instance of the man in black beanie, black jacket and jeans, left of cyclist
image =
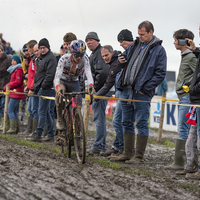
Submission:
<svg viewBox="0 0 200 200">
<path fill-rule="evenodd" d="M 41 51 L 40 58 L 36 61 L 37 70 L 34 78 L 33 91 L 40 96 L 55 96 L 53 88 L 53 80 L 56 72 L 57 60 L 53 53 L 50 51 L 49 41 L 46 38 L 40 40 L 38 47 Z M 29 95 L 30 92 L 29 92 Z M 44 130 L 45 123 L 48 125 L 48 135 L 43 138 L 43 141 L 54 140 L 54 125 L 50 114 L 49 99 L 39 98 L 38 110 L 38 126 L 31 136 L 31 141 L 41 141 L 41 135 Z"/>
</svg>

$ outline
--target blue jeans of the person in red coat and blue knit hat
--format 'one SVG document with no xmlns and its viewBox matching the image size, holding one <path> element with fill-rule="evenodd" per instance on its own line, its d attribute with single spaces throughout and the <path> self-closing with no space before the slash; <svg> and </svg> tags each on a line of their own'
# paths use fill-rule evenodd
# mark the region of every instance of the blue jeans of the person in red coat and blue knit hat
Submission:
<svg viewBox="0 0 200 200">
<path fill-rule="evenodd" d="M 18 119 L 18 109 L 19 109 L 20 99 L 10 98 L 8 104 L 8 118 L 9 119 Z"/>
</svg>

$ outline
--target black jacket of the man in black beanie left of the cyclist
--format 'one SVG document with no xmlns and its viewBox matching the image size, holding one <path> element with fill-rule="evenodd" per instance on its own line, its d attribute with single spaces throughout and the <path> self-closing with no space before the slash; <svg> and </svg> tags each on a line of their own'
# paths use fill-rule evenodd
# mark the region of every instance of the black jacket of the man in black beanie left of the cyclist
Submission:
<svg viewBox="0 0 200 200">
<path fill-rule="evenodd" d="M 37 70 L 34 78 L 33 91 L 37 93 L 40 88 L 53 88 L 53 80 L 56 72 L 57 60 L 49 50 L 45 55 L 41 55 L 36 61 Z"/>
</svg>

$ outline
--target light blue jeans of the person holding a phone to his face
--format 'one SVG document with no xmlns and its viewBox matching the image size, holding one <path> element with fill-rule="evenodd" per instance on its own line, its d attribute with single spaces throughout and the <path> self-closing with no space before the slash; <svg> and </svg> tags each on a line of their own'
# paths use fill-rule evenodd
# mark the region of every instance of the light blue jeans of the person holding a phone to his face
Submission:
<svg viewBox="0 0 200 200">
<path fill-rule="evenodd" d="M 189 96 L 184 96 L 179 100 L 179 104 L 190 104 Z M 188 118 L 185 116 L 189 111 L 188 106 L 178 106 L 178 139 L 187 140 L 190 125 L 186 123 Z"/>
</svg>

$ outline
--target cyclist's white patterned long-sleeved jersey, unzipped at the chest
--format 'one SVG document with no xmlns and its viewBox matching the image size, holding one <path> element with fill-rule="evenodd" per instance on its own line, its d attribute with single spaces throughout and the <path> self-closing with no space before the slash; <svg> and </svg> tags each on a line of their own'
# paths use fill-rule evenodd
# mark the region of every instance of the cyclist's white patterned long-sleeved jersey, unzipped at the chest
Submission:
<svg viewBox="0 0 200 200">
<path fill-rule="evenodd" d="M 73 66 L 73 63 L 71 61 L 71 54 L 66 53 L 64 54 L 57 65 L 56 68 L 56 74 L 54 77 L 54 86 L 60 85 L 60 79 L 66 80 L 68 82 L 71 81 L 78 81 L 78 77 L 81 73 L 85 71 L 88 84 L 94 85 L 91 68 L 90 68 L 90 62 L 88 56 L 85 54 L 83 58 L 81 59 L 80 63 L 76 65 L 75 73 L 71 73 L 70 70 Z"/>
</svg>

